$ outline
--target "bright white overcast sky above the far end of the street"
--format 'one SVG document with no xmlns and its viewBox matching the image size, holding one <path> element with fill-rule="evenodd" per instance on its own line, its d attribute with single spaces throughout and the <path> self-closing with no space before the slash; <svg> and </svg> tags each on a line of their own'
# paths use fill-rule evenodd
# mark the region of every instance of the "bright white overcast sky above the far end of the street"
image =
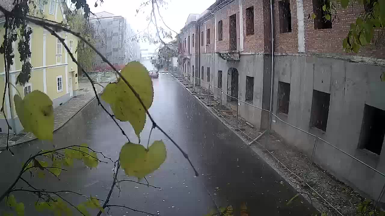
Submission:
<svg viewBox="0 0 385 216">
<path fill-rule="evenodd" d="M 134 28 L 134 32 L 140 32 L 147 27 L 148 21 L 146 20 L 146 17 L 151 12 L 151 5 L 142 8 L 138 15 L 136 15 L 136 10 L 139 9 L 141 3 L 144 2 L 144 0 L 104 0 L 104 3 L 102 4 L 99 3 L 99 0 L 99 5 L 96 8 L 94 7 L 95 1 L 96 0 L 87 0 L 87 3 L 90 5 L 90 9 L 92 12 L 97 13 L 106 11 L 115 15 L 125 17 L 131 24 L 131 26 Z M 164 5 L 164 7 L 161 8 L 160 13 L 166 25 L 178 33 L 181 28 L 184 27 L 184 24 L 190 13 L 200 14 L 215 2 L 215 0 L 165 1 L 166 4 Z M 164 26 L 164 24 L 162 24 L 160 20 L 158 20 L 157 25 L 162 26 L 162 28 L 164 29 L 167 28 L 166 26 Z M 154 47 L 156 46 L 141 42 L 141 48 L 153 49 Z"/>
</svg>

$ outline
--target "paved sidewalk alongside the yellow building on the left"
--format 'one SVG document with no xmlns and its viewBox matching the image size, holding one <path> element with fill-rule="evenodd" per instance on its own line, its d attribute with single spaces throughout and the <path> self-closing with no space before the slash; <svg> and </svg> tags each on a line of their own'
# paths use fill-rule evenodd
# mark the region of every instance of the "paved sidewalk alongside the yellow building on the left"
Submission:
<svg viewBox="0 0 385 216">
<path fill-rule="evenodd" d="M 103 86 L 108 83 L 102 83 Z M 95 85 L 96 91 L 99 93 L 102 91 L 102 87 Z M 87 105 L 92 99 L 95 98 L 94 90 L 89 81 L 79 79 L 79 90 L 77 96 L 74 96 L 69 101 L 54 109 L 54 131 L 61 128 L 67 121 L 74 117 L 82 108 Z M 35 140 L 36 137 L 32 133 L 22 131 L 16 135 L 9 135 L 9 146 L 19 145 L 31 140 Z M 0 151 L 5 150 L 7 146 L 7 133 L 0 133 Z"/>
</svg>

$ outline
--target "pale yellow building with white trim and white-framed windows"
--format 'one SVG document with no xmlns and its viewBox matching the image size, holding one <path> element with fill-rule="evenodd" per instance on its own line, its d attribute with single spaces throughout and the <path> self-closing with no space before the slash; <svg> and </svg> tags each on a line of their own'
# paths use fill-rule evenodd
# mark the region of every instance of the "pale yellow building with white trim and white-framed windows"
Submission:
<svg viewBox="0 0 385 216">
<path fill-rule="evenodd" d="M 36 9 L 30 9 L 30 15 L 34 17 L 44 18 L 47 22 L 63 23 L 66 25 L 64 8 L 62 7 L 63 0 L 35 0 Z M 13 8 L 13 0 L 5 0 L 0 3 L 4 8 Z M 30 8 L 33 8 L 31 3 Z M 3 27 L 5 22 L 4 14 L 0 12 L 0 43 L 3 43 L 3 35 L 5 29 Z M 20 55 L 17 51 L 17 43 L 13 42 L 13 52 L 15 53 L 14 63 L 10 68 L 9 80 L 17 88 L 10 86 L 10 94 L 8 90 L 5 96 L 4 111 L 5 116 L 12 127 L 12 132 L 18 133 L 23 130 L 22 125 L 18 119 L 13 102 L 13 96 L 21 94 L 23 98 L 25 95 L 33 90 L 40 90 L 46 93 L 53 101 L 54 108 L 62 105 L 71 97 L 77 95 L 78 77 L 77 65 L 71 60 L 64 46 L 59 40 L 51 35 L 43 27 L 28 23 L 32 28 L 32 35 L 30 39 L 31 58 L 29 59 L 33 68 L 31 71 L 31 78 L 28 83 L 21 86 L 16 83 L 16 78 L 21 71 L 22 62 L 20 62 Z M 77 53 L 77 38 L 66 32 L 57 32 L 62 38 L 65 38 L 65 43 L 70 48 L 75 58 Z M 5 85 L 5 68 L 4 58 L 0 54 L 0 99 L 3 100 L 4 85 Z M 3 113 L 0 114 L 0 132 L 6 133 L 7 123 Z"/>
</svg>

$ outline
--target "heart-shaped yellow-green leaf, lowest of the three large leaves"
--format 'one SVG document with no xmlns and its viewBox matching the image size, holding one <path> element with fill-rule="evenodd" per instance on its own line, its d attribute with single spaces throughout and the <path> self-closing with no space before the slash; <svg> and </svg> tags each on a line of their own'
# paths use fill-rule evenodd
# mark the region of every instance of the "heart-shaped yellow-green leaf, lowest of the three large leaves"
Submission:
<svg viewBox="0 0 385 216">
<path fill-rule="evenodd" d="M 166 160 L 166 155 L 163 141 L 154 141 L 148 150 L 139 144 L 126 143 L 119 154 L 119 160 L 127 176 L 140 179 L 158 169 Z"/>
</svg>

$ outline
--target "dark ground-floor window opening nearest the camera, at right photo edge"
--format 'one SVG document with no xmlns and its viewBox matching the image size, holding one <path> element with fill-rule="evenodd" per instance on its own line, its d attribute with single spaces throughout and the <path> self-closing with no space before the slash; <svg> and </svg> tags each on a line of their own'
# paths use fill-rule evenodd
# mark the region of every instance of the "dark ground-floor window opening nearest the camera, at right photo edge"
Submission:
<svg viewBox="0 0 385 216">
<path fill-rule="evenodd" d="M 385 110 L 365 104 L 358 146 L 380 155 L 385 135 Z"/>
</svg>

